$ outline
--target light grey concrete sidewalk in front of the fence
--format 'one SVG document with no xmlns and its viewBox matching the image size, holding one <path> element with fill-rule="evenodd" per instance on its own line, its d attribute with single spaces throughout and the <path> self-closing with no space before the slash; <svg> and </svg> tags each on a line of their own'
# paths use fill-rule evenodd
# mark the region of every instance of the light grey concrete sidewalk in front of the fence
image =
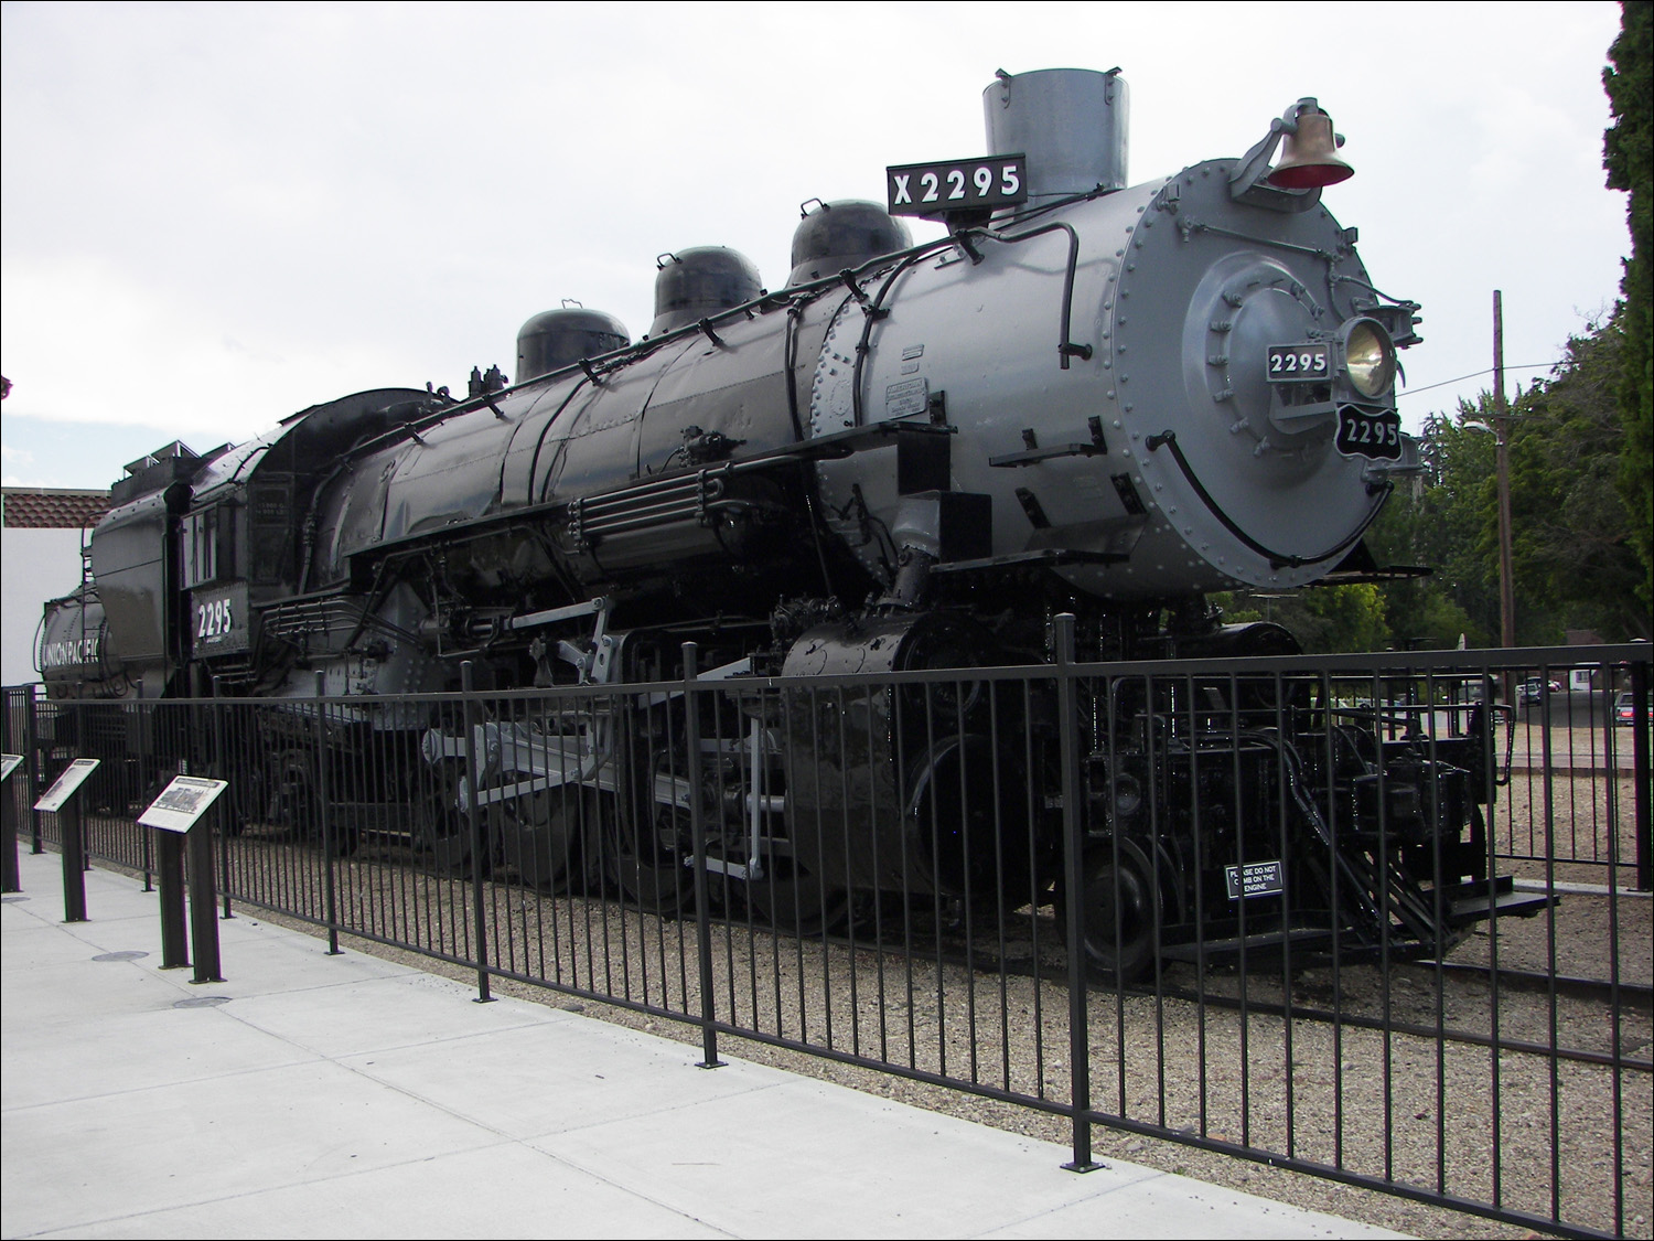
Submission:
<svg viewBox="0 0 1654 1241">
<path fill-rule="evenodd" d="M 7 895 L 0 1233 L 1368 1238 L 1335 1216 L 731 1061 L 263 922 L 160 971 L 157 898 Z M 121 955 L 109 960 L 108 955 Z M 147 953 L 132 956 L 132 953 Z M 104 958 L 104 960 L 99 960 Z"/>
</svg>

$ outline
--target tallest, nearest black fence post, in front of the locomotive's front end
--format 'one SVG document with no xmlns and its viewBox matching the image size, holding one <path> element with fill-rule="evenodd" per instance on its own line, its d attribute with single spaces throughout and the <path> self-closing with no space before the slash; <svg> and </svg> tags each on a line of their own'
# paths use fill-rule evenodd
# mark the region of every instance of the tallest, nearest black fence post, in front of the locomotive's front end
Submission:
<svg viewBox="0 0 1654 1241">
<path fill-rule="evenodd" d="M 1062 743 L 1062 882 L 1068 898 L 1068 1109 L 1073 1160 L 1068 1172 L 1095 1172 L 1092 1160 L 1092 1033 L 1085 993 L 1085 822 L 1080 814 L 1080 721 L 1073 693 L 1073 612 L 1052 620 L 1057 660 L 1057 730 Z"/>
</svg>

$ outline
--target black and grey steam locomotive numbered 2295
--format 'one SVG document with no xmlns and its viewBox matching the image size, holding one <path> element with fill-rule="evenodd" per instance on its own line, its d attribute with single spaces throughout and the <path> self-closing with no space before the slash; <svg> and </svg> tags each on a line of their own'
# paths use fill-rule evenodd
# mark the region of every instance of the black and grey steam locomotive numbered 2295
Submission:
<svg viewBox="0 0 1654 1241">
<path fill-rule="evenodd" d="M 1366 563 L 1416 465 L 1394 386 L 1419 308 L 1376 290 L 1322 205 L 1350 169 L 1313 99 L 1244 157 L 1140 185 L 1118 71 L 1001 74 L 982 99 L 989 149 L 1014 154 L 892 169 L 883 207 L 807 204 L 779 290 L 733 250 L 663 255 L 637 343 L 566 304 L 524 324 L 513 384 L 359 392 L 134 463 L 93 579 L 48 606 L 48 693 L 217 690 L 303 720 L 319 672 L 357 730 L 336 746 L 437 773 L 384 798 L 452 870 L 488 860 L 475 803 L 495 864 L 556 885 L 602 854 L 605 882 L 670 910 L 700 798 L 708 867 L 781 922 L 898 882 L 1037 902 L 1062 855 L 1055 697 L 731 693 L 718 796 L 685 774 L 683 698 L 622 690 L 681 678 L 685 640 L 731 685 L 1040 665 L 1059 614 L 1080 659 L 1290 654 L 1204 596 Z M 948 232 L 915 245 L 903 213 Z M 465 664 L 478 688 L 612 693 L 475 728 L 397 697 L 453 690 Z M 1462 898 L 1489 880 L 1485 721 L 1426 755 L 1308 688 L 1133 685 L 1067 708 L 1098 966 L 1211 933 L 1197 910 L 1232 907 L 1247 857 L 1284 867 L 1269 890 L 1293 908 L 1341 908 L 1323 918 L 1348 942 L 1439 951 L 1492 907 Z M 1007 746 L 1022 786 L 986 788 Z M 265 784 L 329 761 L 299 753 Z M 984 814 L 1011 844 L 969 844 Z M 892 872 L 895 844 L 921 880 Z"/>
</svg>

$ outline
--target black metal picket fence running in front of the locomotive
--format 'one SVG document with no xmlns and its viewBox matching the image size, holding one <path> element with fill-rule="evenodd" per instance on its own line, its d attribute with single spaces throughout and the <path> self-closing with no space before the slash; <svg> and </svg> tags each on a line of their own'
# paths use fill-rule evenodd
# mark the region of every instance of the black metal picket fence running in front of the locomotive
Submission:
<svg viewBox="0 0 1654 1241">
<path fill-rule="evenodd" d="M 103 759 L 93 855 L 147 872 L 137 811 L 220 774 L 225 913 L 683 1021 L 706 1062 L 734 1034 L 1039 1109 L 1080 1167 L 1105 1125 L 1646 1231 L 1647 647 L 1060 639 L 880 677 L 703 678 L 690 647 L 670 680 L 504 695 L 26 687 L 5 746 L 28 789 Z"/>
</svg>

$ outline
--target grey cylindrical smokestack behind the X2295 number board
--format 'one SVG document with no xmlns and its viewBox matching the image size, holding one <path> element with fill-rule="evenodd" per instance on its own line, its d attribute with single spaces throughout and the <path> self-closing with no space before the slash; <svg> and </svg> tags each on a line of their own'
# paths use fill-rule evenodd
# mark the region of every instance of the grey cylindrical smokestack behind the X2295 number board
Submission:
<svg viewBox="0 0 1654 1241">
<path fill-rule="evenodd" d="M 987 149 L 1027 156 L 1029 204 L 1126 185 L 1130 94 L 1120 69 L 1035 69 L 982 91 Z"/>
</svg>

